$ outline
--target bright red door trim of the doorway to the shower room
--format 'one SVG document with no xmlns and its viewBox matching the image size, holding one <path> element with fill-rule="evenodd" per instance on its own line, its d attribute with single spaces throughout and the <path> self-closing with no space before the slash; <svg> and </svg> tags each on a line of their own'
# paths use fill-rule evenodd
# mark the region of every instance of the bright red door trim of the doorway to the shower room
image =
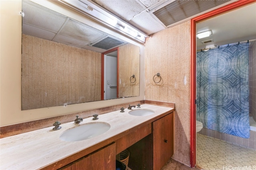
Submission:
<svg viewBox="0 0 256 170">
<path fill-rule="evenodd" d="M 232 4 L 228 4 L 224 7 L 193 18 L 190 22 L 190 166 L 192 168 L 196 166 L 196 23 L 254 2 L 256 2 L 256 0 L 239 0 Z"/>
</svg>

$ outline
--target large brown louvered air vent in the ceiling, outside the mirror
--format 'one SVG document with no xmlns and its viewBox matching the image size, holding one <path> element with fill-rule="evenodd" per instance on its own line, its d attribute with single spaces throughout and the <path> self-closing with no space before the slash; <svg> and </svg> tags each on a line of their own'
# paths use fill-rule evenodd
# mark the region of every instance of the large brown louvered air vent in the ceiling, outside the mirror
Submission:
<svg viewBox="0 0 256 170">
<path fill-rule="evenodd" d="M 166 27 L 190 18 L 196 14 L 224 4 L 230 0 L 175 0 L 174 2 L 153 12 Z"/>
</svg>

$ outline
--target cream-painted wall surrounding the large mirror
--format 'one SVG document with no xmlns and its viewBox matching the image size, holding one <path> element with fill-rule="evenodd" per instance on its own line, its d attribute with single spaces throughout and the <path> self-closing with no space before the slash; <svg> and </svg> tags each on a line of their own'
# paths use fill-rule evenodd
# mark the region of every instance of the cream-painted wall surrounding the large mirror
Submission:
<svg viewBox="0 0 256 170">
<path fill-rule="evenodd" d="M 104 25 L 94 23 L 92 19 L 74 12 L 56 1 L 35 0 L 47 8 L 56 10 L 75 20 L 84 22 L 107 32 L 129 43 L 140 46 L 140 96 L 113 99 L 106 101 L 72 104 L 67 107 L 57 106 L 42 109 L 21 110 L 21 33 L 22 11 L 21 0 L 0 0 L 0 126 L 22 123 L 32 120 L 55 117 L 69 113 L 76 113 L 100 107 L 113 106 L 144 100 L 144 45 L 136 43 L 127 37 L 118 35 L 115 31 L 106 29 Z"/>
</svg>

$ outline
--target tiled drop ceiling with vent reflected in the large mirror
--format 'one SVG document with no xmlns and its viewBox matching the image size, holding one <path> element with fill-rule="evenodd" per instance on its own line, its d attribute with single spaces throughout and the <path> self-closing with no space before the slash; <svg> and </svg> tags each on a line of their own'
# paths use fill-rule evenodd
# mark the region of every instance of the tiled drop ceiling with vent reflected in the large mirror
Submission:
<svg viewBox="0 0 256 170">
<path fill-rule="evenodd" d="M 23 0 L 22 33 L 102 53 L 126 44 L 116 37 L 35 4 Z"/>
</svg>

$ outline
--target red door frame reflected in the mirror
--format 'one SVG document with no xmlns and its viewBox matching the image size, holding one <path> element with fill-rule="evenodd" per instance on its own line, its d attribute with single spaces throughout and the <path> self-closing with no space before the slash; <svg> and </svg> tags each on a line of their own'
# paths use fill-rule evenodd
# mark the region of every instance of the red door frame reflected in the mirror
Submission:
<svg viewBox="0 0 256 170">
<path fill-rule="evenodd" d="M 101 53 L 101 100 L 104 100 L 104 56 L 112 53 L 114 51 L 117 51 L 117 65 L 116 65 L 116 98 L 119 98 L 119 85 L 118 85 L 118 74 L 119 74 L 119 48 L 116 47 L 114 49 L 110 49 L 108 51 L 105 51 Z"/>
</svg>

